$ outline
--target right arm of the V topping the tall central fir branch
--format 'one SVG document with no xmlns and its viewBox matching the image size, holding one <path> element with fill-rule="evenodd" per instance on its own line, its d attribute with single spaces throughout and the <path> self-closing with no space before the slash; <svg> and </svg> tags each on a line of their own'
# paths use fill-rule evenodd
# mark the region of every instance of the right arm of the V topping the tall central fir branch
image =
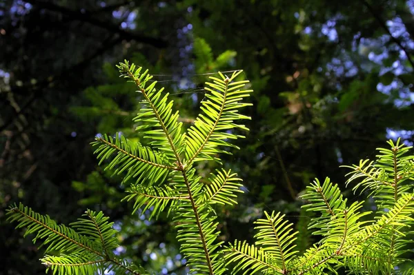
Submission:
<svg viewBox="0 0 414 275">
<path fill-rule="evenodd" d="M 250 103 L 241 103 L 242 99 L 249 96 L 253 90 L 244 90 L 248 81 L 232 82 L 242 71 L 233 72 L 230 79 L 225 77 L 221 72 L 217 77 L 210 77 L 212 82 L 206 82 L 205 89 L 206 101 L 201 102 L 201 111 L 194 125 L 188 129 L 186 136 L 186 160 L 187 165 L 193 161 L 215 160 L 218 153 L 230 154 L 227 151 L 219 149 L 219 146 L 235 147 L 228 143 L 228 139 L 237 139 L 244 136 L 233 134 L 232 130 L 240 128 L 248 130 L 244 125 L 234 123 L 239 119 L 250 119 L 238 113 L 240 108 L 251 105 Z M 208 86 L 208 87 L 207 87 Z"/>
</svg>

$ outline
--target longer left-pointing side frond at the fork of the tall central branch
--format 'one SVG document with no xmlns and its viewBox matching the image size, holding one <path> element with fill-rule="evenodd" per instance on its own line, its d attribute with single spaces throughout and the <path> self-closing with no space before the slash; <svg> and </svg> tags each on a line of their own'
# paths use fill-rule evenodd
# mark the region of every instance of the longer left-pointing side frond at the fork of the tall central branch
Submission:
<svg viewBox="0 0 414 275">
<path fill-rule="evenodd" d="M 134 178 L 137 183 L 157 185 L 165 181 L 168 172 L 177 169 L 169 164 L 164 154 L 155 152 L 141 143 L 133 143 L 124 136 L 119 137 L 118 134 L 115 138 L 104 134 L 92 145 L 98 146 L 94 153 L 98 154 L 99 165 L 115 154 L 105 170 L 113 170 L 113 174 L 126 172 L 123 182 Z"/>
</svg>

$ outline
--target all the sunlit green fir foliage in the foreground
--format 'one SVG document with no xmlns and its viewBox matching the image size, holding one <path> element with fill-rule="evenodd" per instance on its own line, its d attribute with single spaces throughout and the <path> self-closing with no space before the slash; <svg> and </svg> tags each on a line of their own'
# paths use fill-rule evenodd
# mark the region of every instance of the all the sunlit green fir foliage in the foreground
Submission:
<svg viewBox="0 0 414 275">
<path fill-rule="evenodd" d="M 326 274 L 344 269 L 352 274 L 410 274 L 404 270 L 410 226 L 413 223 L 414 176 L 410 147 L 388 141 L 391 150 L 380 148 L 376 161 L 354 165 L 347 183 L 353 190 L 373 198 L 377 211 L 365 209 L 368 203 L 348 202 L 339 187 L 326 178 L 315 179 L 306 187 L 302 199 L 304 211 L 312 212 L 308 225 L 319 240 L 310 248 L 297 249 L 297 233 L 282 213 L 264 212 L 255 224 L 255 243 L 219 241 L 219 222 L 213 205 L 235 205 L 242 192 L 242 180 L 231 170 L 216 170 L 208 179 L 197 173 L 197 161 L 221 163 L 220 154 L 231 154 L 233 139 L 244 136 L 237 130 L 248 130 L 238 124 L 250 119 L 239 114 L 248 103 L 248 81 L 219 73 L 206 83 L 206 100 L 201 114 L 188 130 L 173 110 L 173 101 L 164 89 L 157 89 L 148 70 L 134 64 L 118 65 L 121 77 L 134 83 L 142 94 L 141 108 L 134 121 L 144 135 L 140 142 L 120 134 L 97 137 L 92 145 L 95 154 L 106 162 L 106 170 L 124 176 L 128 194 L 124 200 L 133 203 L 132 213 L 150 210 L 151 218 L 168 212 L 177 230 L 177 240 L 190 272 L 195 274 Z M 34 241 L 47 246 L 41 259 L 48 269 L 59 274 L 146 274 L 114 254 L 119 246 L 112 223 L 102 212 L 88 210 L 85 218 L 57 225 L 23 205 L 8 212 L 17 227 L 35 234 Z M 302 236 L 303 238 L 303 236 Z M 405 273 L 404 273 L 405 272 Z"/>
</svg>

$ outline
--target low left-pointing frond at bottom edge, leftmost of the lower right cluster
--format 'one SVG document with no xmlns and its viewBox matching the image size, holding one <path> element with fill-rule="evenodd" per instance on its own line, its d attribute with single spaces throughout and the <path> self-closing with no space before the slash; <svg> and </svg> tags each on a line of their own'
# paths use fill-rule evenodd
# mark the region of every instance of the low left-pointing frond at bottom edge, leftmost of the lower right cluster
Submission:
<svg viewBox="0 0 414 275">
<path fill-rule="evenodd" d="M 249 245 L 246 241 L 235 241 L 225 248 L 228 252 L 226 265 L 236 263 L 231 274 L 255 274 L 262 272 L 263 274 L 284 274 L 284 270 L 275 265 L 273 256 L 264 249 L 259 249 L 255 245 Z"/>
</svg>

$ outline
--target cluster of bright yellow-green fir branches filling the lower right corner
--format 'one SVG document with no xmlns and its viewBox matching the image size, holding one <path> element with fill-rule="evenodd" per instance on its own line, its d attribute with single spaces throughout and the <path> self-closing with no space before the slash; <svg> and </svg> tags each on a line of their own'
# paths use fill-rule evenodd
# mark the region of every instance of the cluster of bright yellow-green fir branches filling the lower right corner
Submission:
<svg viewBox="0 0 414 275">
<path fill-rule="evenodd" d="M 304 209 L 315 212 L 308 226 L 321 241 L 307 249 L 303 255 L 292 257 L 294 235 L 290 225 L 280 214 L 266 215 L 256 227 L 255 246 L 236 241 L 226 250 L 226 258 L 237 263 L 236 272 L 253 271 L 279 274 L 325 274 L 346 269 L 351 274 L 411 274 L 401 270 L 408 245 L 412 243 L 414 194 L 414 156 L 406 153 L 411 147 L 388 141 L 391 150 L 379 148 L 377 161 L 361 161 L 351 168 L 354 190 L 364 187 L 368 197 L 373 196 L 377 211 L 373 218 L 365 216 L 363 201 L 348 203 L 337 187 L 326 178 L 321 184 L 315 179 L 306 188 L 302 198 Z M 373 205 L 374 206 L 374 205 Z M 282 226 L 279 226 L 281 224 Z M 285 233 L 286 232 L 286 233 Z M 260 247 L 259 249 L 257 247 Z M 269 248 L 270 247 L 270 248 Z M 235 273 L 235 272 L 233 272 Z"/>
</svg>

